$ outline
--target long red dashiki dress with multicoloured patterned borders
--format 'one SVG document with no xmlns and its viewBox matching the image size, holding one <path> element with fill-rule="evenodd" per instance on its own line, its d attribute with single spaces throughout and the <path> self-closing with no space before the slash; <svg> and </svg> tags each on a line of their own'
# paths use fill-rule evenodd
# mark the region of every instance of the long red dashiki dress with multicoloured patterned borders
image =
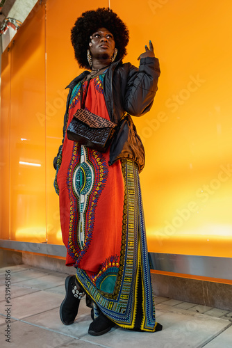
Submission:
<svg viewBox="0 0 232 348">
<path fill-rule="evenodd" d="M 104 74 L 90 80 L 85 109 L 110 120 Z M 81 107 L 81 83 L 72 91 L 67 126 Z M 85 97 L 87 81 L 83 84 Z M 108 165 L 107 152 L 65 135 L 55 188 L 67 266 L 94 307 L 126 329 L 156 331 L 154 299 L 144 230 L 138 166 L 130 159 Z M 156 328 L 157 326 L 157 328 Z"/>
</svg>

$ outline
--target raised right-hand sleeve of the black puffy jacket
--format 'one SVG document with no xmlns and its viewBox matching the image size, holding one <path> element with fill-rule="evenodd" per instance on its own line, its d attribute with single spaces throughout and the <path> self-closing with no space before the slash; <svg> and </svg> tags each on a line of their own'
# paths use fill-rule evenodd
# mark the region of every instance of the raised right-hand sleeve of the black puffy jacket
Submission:
<svg viewBox="0 0 232 348">
<path fill-rule="evenodd" d="M 159 76 L 158 58 L 140 59 L 139 69 L 131 65 L 124 96 L 124 110 L 126 112 L 132 116 L 142 116 L 151 109 L 158 89 Z"/>
</svg>

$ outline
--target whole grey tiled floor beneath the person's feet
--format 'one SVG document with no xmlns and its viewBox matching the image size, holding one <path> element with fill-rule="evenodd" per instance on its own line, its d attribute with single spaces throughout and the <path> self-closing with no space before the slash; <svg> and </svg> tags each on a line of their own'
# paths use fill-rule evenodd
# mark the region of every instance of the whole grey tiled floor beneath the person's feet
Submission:
<svg viewBox="0 0 232 348">
<path fill-rule="evenodd" d="M 88 326 L 92 320 L 84 299 L 74 324 L 65 326 L 60 322 L 59 306 L 67 274 L 26 265 L 7 269 L 10 303 L 6 303 L 6 269 L 0 269 L 1 348 L 232 347 L 232 313 L 160 296 L 155 298 L 156 319 L 163 324 L 163 331 L 136 333 L 116 327 L 105 335 L 90 336 Z M 10 342 L 6 341 L 8 337 Z"/>
</svg>

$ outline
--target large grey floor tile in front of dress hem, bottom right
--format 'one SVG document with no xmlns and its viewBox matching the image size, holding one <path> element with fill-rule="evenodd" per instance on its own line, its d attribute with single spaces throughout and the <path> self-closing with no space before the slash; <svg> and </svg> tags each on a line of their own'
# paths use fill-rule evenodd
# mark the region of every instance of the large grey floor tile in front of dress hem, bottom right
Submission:
<svg viewBox="0 0 232 348">
<path fill-rule="evenodd" d="M 163 331 L 138 333 L 124 329 L 111 330 L 103 336 L 88 338 L 89 342 L 111 348 L 197 348 L 228 326 L 227 320 L 210 318 L 206 315 L 186 315 L 176 313 L 157 313 L 157 321 L 163 324 Z"/>
</svg>

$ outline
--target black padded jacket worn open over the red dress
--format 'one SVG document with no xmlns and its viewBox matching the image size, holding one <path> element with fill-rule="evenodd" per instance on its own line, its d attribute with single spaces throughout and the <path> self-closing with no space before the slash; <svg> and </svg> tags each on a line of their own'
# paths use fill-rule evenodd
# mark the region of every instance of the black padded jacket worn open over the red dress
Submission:
<svg viewBox="0 0 232 348">
<path fill-rule="evenodd" d="M 88 74 L 88 71 L 84 71 L 67 86 L 69 95 L 63 127 L 64 137 L 72 90 Z M 144 147 L 130 115 L 142 116 L 151 109 L 158 89 L 159 76 L 158 59 L 151 57 L 140 59 L 139 68 L 131 65 L 131 63 L 123 64 L 122 61 L 117 61 L 111 64 L 106 71 L 103 79 L 106 107 L 110 120 L 119 125 L 117 136 L 110 145 L 109 165 L 112 165 L 118 159 L 129 158 L 136 161 L 139 171 L 142 171 L 145 161 Z M 62 146 L 60 146 L 59 152 Z M 54 168 L 56 168 L 57 158 L 55 157 L 53 161 Z"/>
</svg>

